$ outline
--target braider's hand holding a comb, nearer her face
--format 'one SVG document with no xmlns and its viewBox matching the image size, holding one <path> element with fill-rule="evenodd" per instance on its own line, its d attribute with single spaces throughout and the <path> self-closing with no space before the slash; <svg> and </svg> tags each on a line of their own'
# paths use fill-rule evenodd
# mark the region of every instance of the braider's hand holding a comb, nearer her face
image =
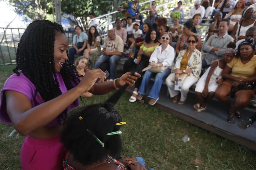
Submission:
<svg viewBox="0 0 256 170">
<path fill-rule="evenodd" d="M 94 83 L 103 83 L 106 74 L 100 69 L 89 70 L 86 72 L 81 82 L 76 86 L 82 88 L 83 93 L 90 90 Z"/>
</svg>

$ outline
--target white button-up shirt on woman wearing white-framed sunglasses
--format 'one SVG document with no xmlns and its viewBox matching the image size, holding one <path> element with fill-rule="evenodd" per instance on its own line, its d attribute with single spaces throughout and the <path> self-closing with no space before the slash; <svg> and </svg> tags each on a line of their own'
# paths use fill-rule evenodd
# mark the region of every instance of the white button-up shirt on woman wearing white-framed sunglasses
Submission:
<svg viewBox="0 0 256 170">
<path fill-rule="evenodd" d="M 156 47 L 154 52 L 151 54 L 151 57 L 149 58 L 149 62 L 160 62 L 163 64 L 163 66 L 167 66 L 172 69 L 175 56 L 174 48 L 168 44 L 162 53 L 161 51 L 162 45 Z"/>
</svg>

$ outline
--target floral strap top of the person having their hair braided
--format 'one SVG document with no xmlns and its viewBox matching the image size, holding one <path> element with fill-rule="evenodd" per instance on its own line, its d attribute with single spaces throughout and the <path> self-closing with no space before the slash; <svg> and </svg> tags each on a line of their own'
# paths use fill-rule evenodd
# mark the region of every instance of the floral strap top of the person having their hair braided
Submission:
<svg viewBox="0 0 256 170">
<path fill-rule="evenodd" d="M 75 168 L 73 168 L 72 166 L 70 166 L 68 163 L 67 163 L 67 158 L 68 158 L 68 155 L 69 155 L 69 152 L 66 153 L 66 156 L 63 160 L 63 168 L 64 170 L 75 170 Z M 114 163 L 116 165 L 118 165 L 115 170 L 120 170 L 120 169 L 126 169 L 128 170 L 121 162 L 119 162 L 118 160 L 112 158 L 110 155 L 107 155 L 107 159 L 106 160 L 103 160 L 103 161 L 100 161 L 100 162 L 96 162 L 94 164 L 92 164 L 91 166 L 89 166 L 88 168 L 86 168 L 85 170 L 91 170 L 97 166 L 100 166 L 102 164 L 105 164 L 105 163 Z"/>
</svg>

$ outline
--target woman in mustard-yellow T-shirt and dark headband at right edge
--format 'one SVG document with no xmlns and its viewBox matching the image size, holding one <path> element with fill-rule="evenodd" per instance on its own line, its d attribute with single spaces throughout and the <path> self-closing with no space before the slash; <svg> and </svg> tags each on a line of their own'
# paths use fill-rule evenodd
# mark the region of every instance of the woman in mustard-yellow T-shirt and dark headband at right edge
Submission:
<svg viewBox="0 0 256 170">
<path fill-rule="evenodd" d="M 250 99 L 255 94 L 256 82 L 256 55 L 253 39 L 243 41 L 238 46 L 236 57 L 225 66 L 222 77 L 226 80 L 218 86 L 215 97 L 229 107 L 228 123 L 234 123 L 234 114 L 239 119 L 239 110 L 249 104 Z M 234 95 L 235 102 L 231 103 L 228 95 Z"/>
</svg>

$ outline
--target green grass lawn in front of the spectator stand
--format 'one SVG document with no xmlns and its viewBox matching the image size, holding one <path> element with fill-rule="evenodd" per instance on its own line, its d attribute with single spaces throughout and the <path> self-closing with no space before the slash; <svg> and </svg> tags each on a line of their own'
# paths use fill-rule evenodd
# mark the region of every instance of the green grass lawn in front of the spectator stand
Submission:
<svg viewBox="0 0 256 170">
<path fill-rule="evenodd" d="M 0 88 L 13 66 L 0 67 Z M 86 104 L 105 101 L 111 94 L 84 99 Z M 141 156 L 156 170 L 255 170 L 256 152 L 198 128 L 146 103 L 128 102 L 125 93 L 115 105 L 127 124 L 121 128 L 123 157 Z M 0 167 L 19 170 L 20 148 L 25 137 L 0 123 Z M 188 135 L 190 141 L 182 138 Z M 17 137 L 17 138 L 16 138 Z"/>
</svg>

